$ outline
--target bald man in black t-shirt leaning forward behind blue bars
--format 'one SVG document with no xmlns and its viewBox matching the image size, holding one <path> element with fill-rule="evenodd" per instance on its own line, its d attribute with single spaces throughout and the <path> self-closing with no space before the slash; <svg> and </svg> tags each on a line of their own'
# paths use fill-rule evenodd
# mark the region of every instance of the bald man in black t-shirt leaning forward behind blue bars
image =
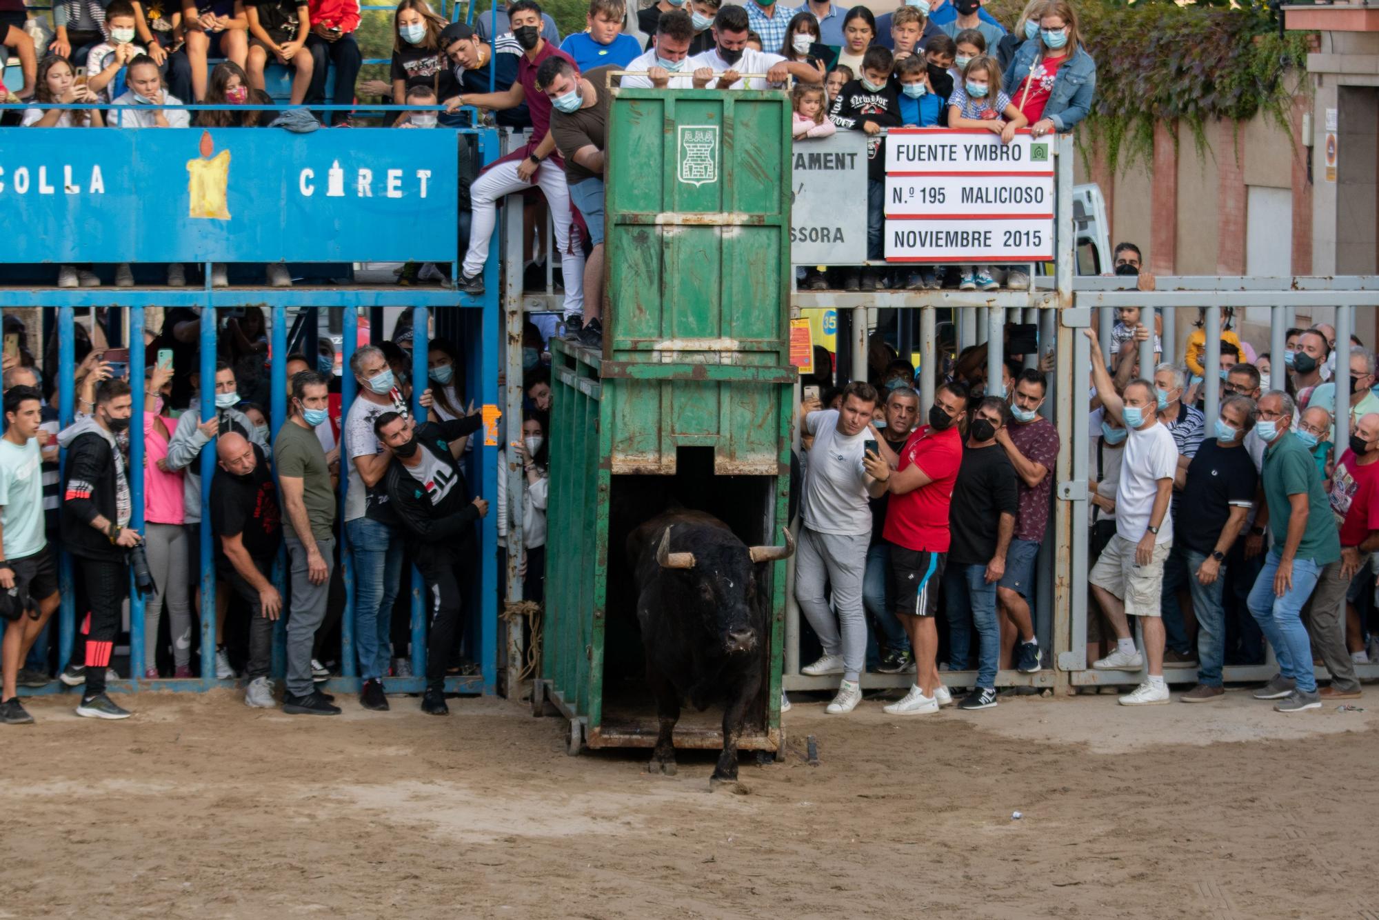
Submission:
<svg viewBox="0 0 1379 920">
<path fill-rule="evenodd" d="M 277 486 L 263 450 L 243 434 L 221 434 L 215 455 L 219 465 L 211 479 L 211 532 L 221 548 L 215 577 L 250 608 L 250 686 L 244 705 L 272 709 L 268 673 L 273 663 L 273 621 L 283 610 L 283 597 L 269 581 L 283 542 Z"/>
</svg>

